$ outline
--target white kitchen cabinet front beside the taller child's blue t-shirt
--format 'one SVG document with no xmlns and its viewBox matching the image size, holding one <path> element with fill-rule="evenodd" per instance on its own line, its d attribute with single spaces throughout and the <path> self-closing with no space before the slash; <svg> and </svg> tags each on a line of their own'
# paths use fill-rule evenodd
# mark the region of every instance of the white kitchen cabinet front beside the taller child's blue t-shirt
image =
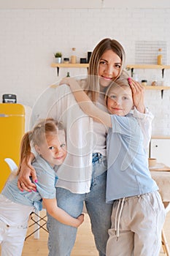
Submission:
<svg viewBox="0 0 170 256">
<path fill-rule="evenodd" d="M 152 138 L 150 141 L 150 157 L 170 167 L 170 137 Z"/>
</svg>

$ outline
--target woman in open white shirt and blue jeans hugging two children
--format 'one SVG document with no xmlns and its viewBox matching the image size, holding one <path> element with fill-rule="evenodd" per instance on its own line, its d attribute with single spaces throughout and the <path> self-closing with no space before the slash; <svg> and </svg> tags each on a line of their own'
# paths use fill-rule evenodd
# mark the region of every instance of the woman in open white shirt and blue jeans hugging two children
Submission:
<svg viewBox="0 0 170 256">
<path fill-rule="evenodd" d="M 101 108 L 104 108 L 104 91 L 109 84 L 112 83 L 112 80 L 120 77 L 124 64 L 125 51 L 122 45 L 115 39 L 102 39 L 93 50 L 90 57 L 86 91 L 91 99 L 96 102 L 96 104 L 99 104 Z M 132 80 L 131 88 L 134 95 L 134 104 L 138 110 L 134 114 L 139 117 L 145 139 L 148 142 L 150 138 L 152 114 L 147 113 L 147 110 L 144 108 L 143 87 Z M 67 159 L 66 165 L 62 166 L 61 171 L 58 172 L 59 181 L 56 189 L 58 207 L 63 208 L 73 217 L 77 217 L 82 213 L 83 202 L 85 202 L 90 216 L 91 228 L 95 238 L 96 248 L 98 249 L 98 255 L 104 256 L 106 255 L 106 244 L 109 237 L 108 229 L 111 225 L 110 217 L 112 212 L 112 205 L 106 203 L 105 196 L 107 178 L 107 129 L 104 125 L 93 122 L 83 113 L 80 113 L 80 115 L 76 117 L 74 115 L 70 116 L 74 111 L 74 107 L 77 113 L 81 110 L 77 106 L 69 86 L 62 85 L 56 90 L 58 91 L 58 97 L 62 97 L 62 99 L 61 102 L 59 102 L 59 98 L 57 99 L 57 102 L 55 102 L 57 109 L 53 108 L 53 111 L 50 111 L 48 116 L 61 118 L 66 127 L 69 144 L 73 145 L 77 143 L 75 151 L 72 151 L 73 146 L 69 148 L 68 145 L 70 153 L 69 159 Z M 69 107 L 68 102 L 73 103 L 72 110 L 66 111 L 66 108 Z M 54 110 L 56 110 L 56 112 Z M 75 121 L 76 118 L 78 118 L 80 122 Z M 72 119 L 71 123 L 69 123 L 69 119 Z M 74 121 L 76 124 L 73 124 Z M 85 126 L 81 124 L 83 121 Z M 70 124 L 73 124 L 71 126 L 74 128 L 74 132 L 70 129 Z M 80 132 L 81 125 L 83 129 L 86 129 L 83 130 L 86 134 L 88 128 L 90 129 L 90 138 L 93 137 L 93 142 L 95 141 L 92 146 L 90 144 L 91 140 L 89 139 L 85 151 L 81 151 L 81 147 L 79 148 L 79 145 L 82 143 L 80 136 L 83 136 L 83 132 Z M 93 132 L 91 132 L 92 129 Z M 73 137 L 75 141 L 71 143 Z M 76 142 L 77 138 L 78 142 Z M 82 158 L 85 159 L 85 161 L 82 160 Z M 30 158 L 30 162 L 31 159 L 32 158 Z M 92 161 L 90 161 L 90 159 Z M 22 186 L 22 189 L 28 190 L 36 188 L 35 184 L 31 183 L 29 179 L 29 176 L 32 176 L 33 180 L 36 180 L 36 173 L 31 168 L 30 162 L 29 168 L 26 166 L 26 161 L 23 162 L 22 171 L 18 179 L 18 187 L 20 189 L 20 184 L 23 183 L 25 185 Z M 77 162 L 81 162 L 81 164 L 79 165 Z M 53 217 L 50 217 L 50 215 L 47 219 L 47 227 L 49 229 L 49 255 L 69 256 L 74 246 L 77 229 L 57 222 Z"/>
</svg>

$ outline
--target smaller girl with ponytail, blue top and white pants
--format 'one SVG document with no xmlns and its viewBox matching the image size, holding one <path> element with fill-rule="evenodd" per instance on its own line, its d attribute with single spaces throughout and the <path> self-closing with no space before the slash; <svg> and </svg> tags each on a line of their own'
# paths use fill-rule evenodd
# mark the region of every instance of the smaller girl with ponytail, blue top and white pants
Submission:
<svg viewBox="0 0 170 256">
<path fill-rule="evenodd" d="M 31 152 L 33 144 L 37 156 L 32 165 L 38 181 L 36 191 L 20 192 L 18 174 L 23 157 Z M 55 182 L 56 170 L 66 158 L 66 136 L 63 127 L 52 118 L 39 122 L 31 132 L 23 136 L 20 148 L 18 173 L 12 173 L 0 195 L 0 243 L 1 256 L 20 256 L 26 237 L 28 218 L 34 208 L 42 209 L 42 201 L 48 213 L 65 225 L 78 227 L 83 214 L 73 218 L 58 208 Z"/>
</svg>

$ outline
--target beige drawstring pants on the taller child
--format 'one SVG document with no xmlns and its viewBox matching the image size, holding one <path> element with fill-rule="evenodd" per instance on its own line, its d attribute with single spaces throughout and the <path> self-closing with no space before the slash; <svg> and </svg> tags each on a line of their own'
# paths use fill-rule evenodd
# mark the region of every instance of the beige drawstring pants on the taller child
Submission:
<svg viewBox="0 0 170 256">
<path fill-rule="evenodd" d="M 115 200 L 107 256 L 158 256 L 165 216 L 158 191 Z"/>
</svg>

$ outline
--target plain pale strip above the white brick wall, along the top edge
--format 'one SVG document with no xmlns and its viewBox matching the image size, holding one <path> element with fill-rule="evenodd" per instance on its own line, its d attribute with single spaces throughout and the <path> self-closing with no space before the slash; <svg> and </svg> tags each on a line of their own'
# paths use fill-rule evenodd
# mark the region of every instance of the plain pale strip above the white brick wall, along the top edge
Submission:
<svg viewBox="0 0 170 256">
<path fill-rule="evenodd" d="M 169 8 L 169 0 L 0 0 L 0 8 L 50 9 L 50 8 Z"/>
</svg>

